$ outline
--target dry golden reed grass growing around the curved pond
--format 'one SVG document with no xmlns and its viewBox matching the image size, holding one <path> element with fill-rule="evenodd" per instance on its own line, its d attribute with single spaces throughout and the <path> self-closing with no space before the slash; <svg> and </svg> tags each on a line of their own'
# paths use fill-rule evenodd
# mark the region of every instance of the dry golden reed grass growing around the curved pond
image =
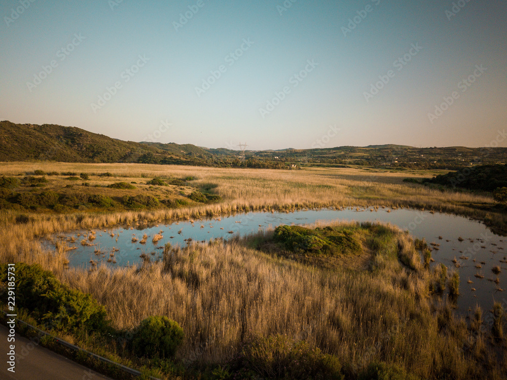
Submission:
<svg viewBox="0 0 507 380">
<path fill-rule="evenodd" d="M 187 363 L 223 363 L 235 355 L 239 342 L 249 335 L 285 333 L 337 355 L 350 365 L 351 373 L 380 360 L 402 365 L 423 378 L 436 378 L 442 371 L 456 379 L 479 378 L 479 366 L 461 350 L 466 325 L 453 319 L 449 305 L 437 305 L 433 310 L 429 283 L 434 275 L 422 269 L 410 238 L 392 226 L 388 228 L 396 236 L 399 258 L 413 270 L 378 251 L 371 252 L 371 270 L 345 266 L 327 270 L 274 257 L 249 248 L 247 242 L 233 240 L 175 248 L 166 252 L 163 262 L 145 263 L 142 268 L 112 270 L 99 266 L 87 272 L 66 268 L 65 248 L 45 251 L 36 238 L 119 223 L 326 206 L 411 206 L 488 217 L 504 225 L 504 215 L 470 206 L 491 206 L 490 197 L 406 184 L 402 182 L 404 173 L 357 169 L 0 164 L 0 173 L 6 175 L 34 169 L 90 174 L 107 171 L 127 182 L 139 182 L 141 176 L 192 175 L 197 178 L 192 186 L 216 185 L 214 191 L 223 198 L 219 204 L 108 214 L 30 213 L 26 223 L 16 222 L 18 212 L 0 213 L 4 232 L 0 236 L 0 261 L 40 263 L 70 286 L 96 297 L 117 328 L 132 328 L 150 315 L 174 319 L 186 332 L 178 355 Z M 114 182 L 115 178 L 92 177 L 90 181 Z M 144 194 L 151 194 L 150 189 Z M 145 235 L 141 242 L 147 238 Z M 439 325 L 442 315 L 447 321 L 444 332 Z M 477 342 L 471 350 L 482 357 L 489 355 L 482 341 Z"/>
</svg>

